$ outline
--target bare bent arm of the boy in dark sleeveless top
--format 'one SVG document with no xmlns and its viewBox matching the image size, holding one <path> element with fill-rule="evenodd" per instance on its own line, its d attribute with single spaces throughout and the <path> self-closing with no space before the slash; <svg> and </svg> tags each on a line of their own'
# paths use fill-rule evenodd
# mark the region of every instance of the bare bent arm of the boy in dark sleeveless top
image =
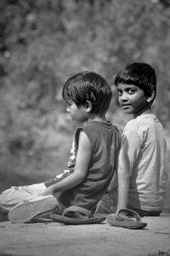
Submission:
<svg viewBox="0 0 170 256">
<path fill-rule="evenodd" d="M 74 172 L 70 176 L 65 177 L 59 183 L 55 183 L 50 186 L 43 195 L 54 195 L 54 193 L 65 191 L 77 186 L 79 183 L 82 183 L 84 177 L 86 177 L 88 172 L 88 165 L 91 159 L 91 146 L 88 139 L 88 136 L 84 131 L 80 132 L 78 151 L 77 151 L 77 160 Z"/>
</svg>

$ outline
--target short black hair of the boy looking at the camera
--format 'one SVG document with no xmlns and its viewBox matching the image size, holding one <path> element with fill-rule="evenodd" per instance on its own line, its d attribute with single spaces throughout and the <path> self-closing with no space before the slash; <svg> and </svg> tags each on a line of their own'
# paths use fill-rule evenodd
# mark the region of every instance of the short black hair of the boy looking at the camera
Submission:
<svg viewBox="0 0 170 256">
<path fill-rule="evenodd" d="M 125 67 L 116 75 L 115 85 L 133 84 L 144 90 L 144 96 L 151 96 L 155 91 L 156 97 L 156 71 L 147 63 L 133 62 L 127 63 Z"/>
</svg>

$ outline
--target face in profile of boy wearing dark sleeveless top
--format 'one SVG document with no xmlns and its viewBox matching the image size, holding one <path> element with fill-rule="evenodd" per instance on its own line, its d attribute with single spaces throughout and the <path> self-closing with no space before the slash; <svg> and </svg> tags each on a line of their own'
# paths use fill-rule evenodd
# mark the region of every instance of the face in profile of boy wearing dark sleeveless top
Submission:
<svg viewBox="0 0 170 256">
<path fill-rule="evenodd" d="M 77 124 L 81 124 L 88 120 L 88 113 L 84 107 L 77 107 L 75 102 L 70 102 L 68 108 L 66 109 L 70 113 L 71 119 L 73 119 Z"/>
</svg>

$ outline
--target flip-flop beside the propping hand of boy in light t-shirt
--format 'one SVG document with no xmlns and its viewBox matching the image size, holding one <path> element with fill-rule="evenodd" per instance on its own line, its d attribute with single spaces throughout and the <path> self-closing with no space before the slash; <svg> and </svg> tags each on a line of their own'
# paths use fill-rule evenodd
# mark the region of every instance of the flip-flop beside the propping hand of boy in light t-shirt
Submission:
<svg viewBox="0 0 170 256">
<path fill-rule="evenodd" d="M 121 213 L 127 213 L 130 217 Z M 116 214 L 109 214 L 106 217 L 106 221 L 112 226 L 132 230 L 144 229 L 147 223 L 141 222 L 140 220 L 139 214 L 130 209 L 120 209 Z"/>
</svg>

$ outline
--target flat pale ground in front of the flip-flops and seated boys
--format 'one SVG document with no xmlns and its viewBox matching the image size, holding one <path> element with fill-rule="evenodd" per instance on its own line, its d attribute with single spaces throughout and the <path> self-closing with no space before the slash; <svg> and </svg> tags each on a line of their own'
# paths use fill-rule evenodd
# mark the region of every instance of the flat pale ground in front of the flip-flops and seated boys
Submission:
<svg viewBox="0 0 170 256">
<path fill-rule="evenodd" d="M 170 255 L 170 214 L 144 217 L 144 230 L 107 224 L 0 223 L 0 255 L 138 256 Z"/>
</svg>

